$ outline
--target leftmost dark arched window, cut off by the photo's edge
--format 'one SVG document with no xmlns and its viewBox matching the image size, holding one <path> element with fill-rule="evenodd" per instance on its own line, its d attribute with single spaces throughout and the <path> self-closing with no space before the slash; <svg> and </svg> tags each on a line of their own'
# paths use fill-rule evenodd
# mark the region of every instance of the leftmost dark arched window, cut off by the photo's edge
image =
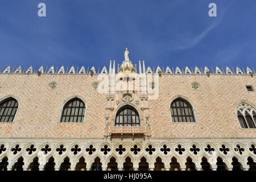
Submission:
<svg viewBox="0 0 256 182">
<path fill-rule="evenodd" d="M 0 122 L 13 122 L 18 102 L 13 98 L 7 98 L 0 103 Z"/>
</svg>

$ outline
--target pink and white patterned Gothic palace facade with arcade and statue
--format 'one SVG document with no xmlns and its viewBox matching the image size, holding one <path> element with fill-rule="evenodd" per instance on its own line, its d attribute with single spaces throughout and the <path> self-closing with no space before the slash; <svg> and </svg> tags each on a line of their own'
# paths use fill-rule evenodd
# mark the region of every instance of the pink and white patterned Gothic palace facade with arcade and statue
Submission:
<svg viewBox="0 0 256 182">
<path fill-rule="evenodd" d="M 126 49 L 0 82 L 1 170 L 255 170 L 253 68 L 137 67 Z"/>
</svg>

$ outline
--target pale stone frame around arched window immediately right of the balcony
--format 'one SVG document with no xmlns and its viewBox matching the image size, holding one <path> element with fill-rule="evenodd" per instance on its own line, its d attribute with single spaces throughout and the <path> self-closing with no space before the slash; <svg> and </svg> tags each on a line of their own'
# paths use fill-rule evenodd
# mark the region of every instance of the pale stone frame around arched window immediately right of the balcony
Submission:
<svg viewBox="0 0 256 182">
<path fill-rule="evenodd" d="M 174 100 L 176 100 L 177 98 L 180 98 L 181 100 L 184 100 L 185 102 L 188 102 L 189 105 L 191 105 L 192 107 L 192 111 L 193 111 L 193 115 L 195 117 L 195 122 L 173 122 L 172 121 L 172 114 L 171 114 L 171 104 Z M 189 98 L 182 96 L 182 95 L 177 95 L 175 97 L 172 97 L 172 99 L 170 100 L 169 104 L 168 104 L 168 109 L 169 109 L 169 117 L 170 117 L 170 123 L 171 124 L 195 124 L 195 123 L 199 123 L 198 118 L 197 118 L 197 113 L 195 110 L 195 106 L 193 104 L 193 102 L 191 100 L 189 100 Z"/>
</svg>

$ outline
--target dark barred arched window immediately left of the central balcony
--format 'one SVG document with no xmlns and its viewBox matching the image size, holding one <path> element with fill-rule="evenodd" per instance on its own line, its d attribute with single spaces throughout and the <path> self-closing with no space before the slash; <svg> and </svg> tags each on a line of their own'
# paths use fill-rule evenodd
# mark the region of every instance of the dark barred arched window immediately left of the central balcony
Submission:
<svg viewBox="0 0 256 182">
<path fill-rule="evenodd" d="M 60 122 L 84 121 L 85 104 L 79 98 L 74 98 L 64 105 Z"/>
</svg>

